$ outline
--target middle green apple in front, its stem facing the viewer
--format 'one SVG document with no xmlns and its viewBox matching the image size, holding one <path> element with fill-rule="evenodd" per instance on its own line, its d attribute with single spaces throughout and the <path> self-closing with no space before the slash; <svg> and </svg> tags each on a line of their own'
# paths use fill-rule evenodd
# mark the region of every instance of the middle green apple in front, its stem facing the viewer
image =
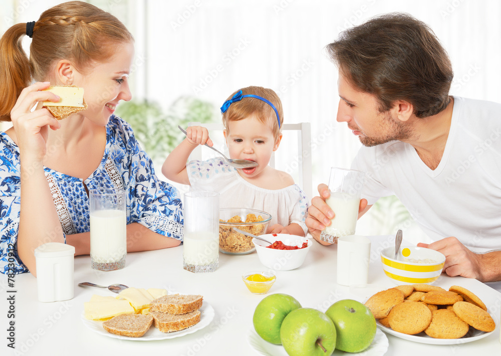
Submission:
<svg viewBox="0 0 501 356">
<path fill-rule="evenodd" d="M 330 356 L 336 347 L 336 327 L 323 312 L 299 308 L 285 317 L 280 338 L 289 356 Z"/>
</svg>

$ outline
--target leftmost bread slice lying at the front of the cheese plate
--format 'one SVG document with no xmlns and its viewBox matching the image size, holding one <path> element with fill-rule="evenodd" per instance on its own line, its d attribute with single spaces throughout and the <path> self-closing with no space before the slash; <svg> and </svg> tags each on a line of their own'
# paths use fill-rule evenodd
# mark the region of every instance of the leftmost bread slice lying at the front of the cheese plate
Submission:
<svg viewBox="0 0 501 356">
<path fill-rule="evenodd" d="M 143 314 L 122 314 L 103 322 L 106 331 L 112 334 L 141 337 L 153 323 L 153 316 Z"/>
</svg>

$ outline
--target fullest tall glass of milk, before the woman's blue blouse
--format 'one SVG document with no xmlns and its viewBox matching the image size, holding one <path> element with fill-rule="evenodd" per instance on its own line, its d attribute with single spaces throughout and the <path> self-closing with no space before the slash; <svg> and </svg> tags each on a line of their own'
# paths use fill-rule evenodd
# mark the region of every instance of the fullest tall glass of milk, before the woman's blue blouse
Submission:
<svg viewBox="0 0 501 356">
<path fill-rule="evenodd" d="M 94 189 L 89 192 L 89 200 L 92 268 L 100 271 L 122 269 L 127 255 L 125 191 Z"/>
</svg>

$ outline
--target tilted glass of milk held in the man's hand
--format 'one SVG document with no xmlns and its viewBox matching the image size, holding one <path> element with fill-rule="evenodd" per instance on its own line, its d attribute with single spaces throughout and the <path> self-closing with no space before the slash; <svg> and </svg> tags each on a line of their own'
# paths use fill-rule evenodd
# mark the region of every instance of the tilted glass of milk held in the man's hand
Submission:
<svg viewBox="0 0 501 356">
<path fill-rule="evenodd" d="M 320 234 L 323 241 L 334 243 L 341 236 L 355 234 L 364 177 L 365 173 L 359 170 L 331 168 L 331 196 L 325 202 L 335 216 L 331 219 L 331 225 Z"/>
</svg>

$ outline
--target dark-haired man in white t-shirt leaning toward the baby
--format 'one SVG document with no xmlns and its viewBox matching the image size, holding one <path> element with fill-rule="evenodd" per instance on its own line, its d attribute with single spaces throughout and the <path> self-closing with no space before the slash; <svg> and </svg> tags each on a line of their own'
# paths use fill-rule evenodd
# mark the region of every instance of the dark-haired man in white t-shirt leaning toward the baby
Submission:
<svg viewBox="0 0 501 356">
<path fill-rule="evenodd" d="M 364 145 L 352 164 L 367 173 L 359 218 L 394 194 L 448 275 L 501 280 L 501 104 L 449 96 L 445 50 L 407 14 L 346 30 L 327 49 L 339 67 L 337 121 Z M 335 212 L 327 186 L 318 190 L 306 225 L 320 241 Z"/>
</svg>

